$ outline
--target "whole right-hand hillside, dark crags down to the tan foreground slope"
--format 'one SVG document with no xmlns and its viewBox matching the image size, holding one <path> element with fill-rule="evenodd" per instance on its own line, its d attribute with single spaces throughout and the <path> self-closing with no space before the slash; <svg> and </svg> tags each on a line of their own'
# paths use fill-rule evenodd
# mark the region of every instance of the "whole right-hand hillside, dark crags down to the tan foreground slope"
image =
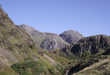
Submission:
<svg viewBox="0 0 110 75">
<path fill-rule="evenodd" d="M 67 75 L 110 74 L 110 36 L 84 37 L 73 44 L 70 50 L 78 61 L 70 67 Z"/>
</svg>

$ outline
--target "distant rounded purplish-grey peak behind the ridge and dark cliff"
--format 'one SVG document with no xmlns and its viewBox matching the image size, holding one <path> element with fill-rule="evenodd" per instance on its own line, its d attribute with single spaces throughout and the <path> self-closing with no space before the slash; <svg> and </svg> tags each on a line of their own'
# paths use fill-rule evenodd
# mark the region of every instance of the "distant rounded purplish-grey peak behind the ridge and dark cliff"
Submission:
<svg viewBox="0 0 110 75">
<path fill-rule="evenodd" d="M 80 40 L 83 36 L 79 32 L 76 32 L 74 30 L 68 30 L 61 33 L 60 37 L 62 37 L 62 39 L 66 42 L 72 44 Z"/>
</svg>

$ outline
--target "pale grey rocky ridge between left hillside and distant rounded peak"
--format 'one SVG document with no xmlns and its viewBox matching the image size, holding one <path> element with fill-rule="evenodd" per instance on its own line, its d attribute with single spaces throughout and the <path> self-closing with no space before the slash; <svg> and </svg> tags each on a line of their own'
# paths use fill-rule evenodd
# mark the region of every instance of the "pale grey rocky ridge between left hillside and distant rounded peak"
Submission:
<svg viewBox="0 0 110 75">
<path fill-rule="evenodd" d="M 63 49 L 66 45 L 69 45 L 55 33 L 39 32 L 38 30 L 35 30 L 27 25 L 20 25 L 19 27 L 25 30 L 40 48 L 55 50 Z"/>
</svg>

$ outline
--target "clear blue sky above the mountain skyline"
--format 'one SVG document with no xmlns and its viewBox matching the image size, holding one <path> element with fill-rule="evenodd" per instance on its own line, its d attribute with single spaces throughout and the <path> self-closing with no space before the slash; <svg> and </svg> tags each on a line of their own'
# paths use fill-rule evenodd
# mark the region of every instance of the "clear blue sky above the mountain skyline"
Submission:
<svg viewBox="0 0 110 75">
<path fill-rule="evenodd" d="M 110 35 L 110 0 L 0 0 L 15 24 L 60 34 Z"/>
</svg>

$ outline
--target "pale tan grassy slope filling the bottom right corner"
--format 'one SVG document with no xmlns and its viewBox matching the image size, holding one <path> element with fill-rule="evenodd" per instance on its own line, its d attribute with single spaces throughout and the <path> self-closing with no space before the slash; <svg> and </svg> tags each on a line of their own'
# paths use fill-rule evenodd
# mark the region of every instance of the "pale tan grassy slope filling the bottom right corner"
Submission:
<svg viewBox="0 0 110 75">
<path fill-rule="evenodd" d="M 73 75 L 110 75 L 110 58 L 100 60 L 99 62 L 84 68 Z"/>
</svg>

